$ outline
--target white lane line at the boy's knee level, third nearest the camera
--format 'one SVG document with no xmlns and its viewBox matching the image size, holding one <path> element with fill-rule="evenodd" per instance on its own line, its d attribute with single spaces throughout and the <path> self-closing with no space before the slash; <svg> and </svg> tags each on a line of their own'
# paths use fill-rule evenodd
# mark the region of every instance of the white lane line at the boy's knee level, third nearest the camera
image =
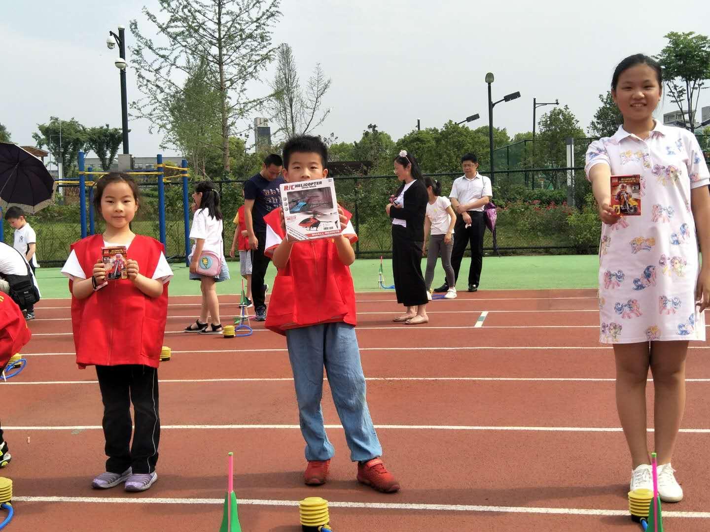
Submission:
<svg viewBox="0 0 710 532">
<path fill-rule="evenodd" d="M 324 377 L 325 382 L 328 381 Z M 397 382 L 397 381 L 418 381 L 418 382 L 616 382 L 613 378 L 603 377 L 365 377 L 366 381 L 373 382 Z M 193 384 L 200 382 L 293 382 L 293 377 L 224 377 L 220 379 L 158 379 L 161 384 Z M 653 379 L 647 379 L 653 382 Z M 685 379 L 685 382 L 710 382 L 710 379 Z M 0 382 L 15 386 L 32 386 L 43 384 L 99 384 L 97 380 L 35 380 L 16 381 L 9 380 Z"/>
</svg>

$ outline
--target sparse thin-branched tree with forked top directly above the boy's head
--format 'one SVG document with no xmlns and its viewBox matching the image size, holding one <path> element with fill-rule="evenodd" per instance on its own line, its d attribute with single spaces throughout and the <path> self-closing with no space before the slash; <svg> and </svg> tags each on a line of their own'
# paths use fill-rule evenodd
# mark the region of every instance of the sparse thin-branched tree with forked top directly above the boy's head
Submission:
<svg viewBox="0 0 710 532">
<path fill-rule="evenodd" d="M 273 116 L 278 124 L 278 132 L 287 137 L 305 135 L 320 126 L 330 113 L 326 109 L 320 116 L 323 97 L 330 88 L 331 79 L 325 78 L 320 63 L 315 65 L 313 74 L 308 78 L 305 94 L 302 91 L 293 50 L 288 44 L 282 44 L 276 52 L 276 73 L 273 89 Z"/>
</svg>

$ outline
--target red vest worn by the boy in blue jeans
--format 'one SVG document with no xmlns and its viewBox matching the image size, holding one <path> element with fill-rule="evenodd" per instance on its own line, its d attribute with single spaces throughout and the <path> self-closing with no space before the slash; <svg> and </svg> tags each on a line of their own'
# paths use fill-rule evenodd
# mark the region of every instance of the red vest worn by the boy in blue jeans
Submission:
<svg viewBox="0 0 710 532">
<path fill-rule="evenodd" d="M 266 225 L 285 238 L 280 212 L 264 216 Z M 348 218 L 350 213 L 345 213 Z M 271 250 L 273 251 L 273 250 Z M 271 255 L 271 252 L 267 250 Z M 297 242 L 274 279 L 266 328 L 285 334 L 289 328 L 344 321 L 356 325 L 355 289 L 350 268 L 340 262 L 335 241 Z"/>
</svg>

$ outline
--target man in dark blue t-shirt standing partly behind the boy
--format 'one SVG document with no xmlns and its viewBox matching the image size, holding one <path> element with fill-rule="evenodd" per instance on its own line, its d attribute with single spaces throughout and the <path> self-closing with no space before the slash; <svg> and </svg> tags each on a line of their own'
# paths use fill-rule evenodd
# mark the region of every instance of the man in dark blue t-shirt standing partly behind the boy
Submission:
<svg viewBox="0 0 710 532">
<path fill-rule="evenodd" d="M 266 223 L 264 216 L 281 204 L 280 184 L 283 161 L 279 155 L 271 154 L 264 159 L 261 172 L 244 183 L 244 221 L 251 250 L 251 297 L 256 311 L 256 321 L 266 320 L 266 291 L 264 275 L 269 258 L 264 255 L 266 245 Z"/>
</svg>

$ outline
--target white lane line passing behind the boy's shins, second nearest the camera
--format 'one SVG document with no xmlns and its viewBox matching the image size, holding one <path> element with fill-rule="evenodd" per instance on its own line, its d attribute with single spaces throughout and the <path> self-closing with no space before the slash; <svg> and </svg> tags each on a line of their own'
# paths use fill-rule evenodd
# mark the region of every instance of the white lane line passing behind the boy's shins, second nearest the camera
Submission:
<svg viewBox="0 0 710 532">
<path fill-rule="evenodd" d="M 497 425 L 375 425 L 379 430 L 393 431 L 523 431 L 523 432 L 621 432 L 621 427 L 535 427 Z M 342 425 L 325 425 L 325 428 L 342 429 Z M 246 424 L 246 425 L 161 425 L 161 430 L 174 431 L 225 431 L 225 430 L 299 430 L 300 425 Z M 58 426 L 8 426 L 4 431 L 98 431 L 101 425 Z M 647 428 L 652 433 L 652 428 Z M 710 428 L 681 428 L 688 434 L 710 434 Z"/>
</svg>

